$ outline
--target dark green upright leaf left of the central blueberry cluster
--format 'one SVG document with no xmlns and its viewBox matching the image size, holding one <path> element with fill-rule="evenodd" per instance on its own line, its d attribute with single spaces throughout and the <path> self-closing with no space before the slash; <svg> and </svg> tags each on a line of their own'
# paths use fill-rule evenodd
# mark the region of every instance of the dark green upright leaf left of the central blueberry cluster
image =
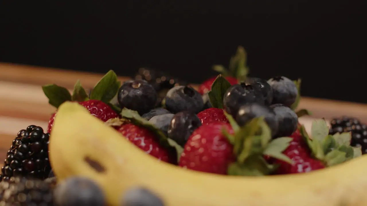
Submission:
<svg viewBox="0 0 367 206">
<path fill-rule="evenodd" d="M 209 100 L 214 108 L 223 108 L 223 97 L 230 83 L 221 74 L 215 79 L 211 85 L 211 91 L 208 92 Z"/>
</svg>

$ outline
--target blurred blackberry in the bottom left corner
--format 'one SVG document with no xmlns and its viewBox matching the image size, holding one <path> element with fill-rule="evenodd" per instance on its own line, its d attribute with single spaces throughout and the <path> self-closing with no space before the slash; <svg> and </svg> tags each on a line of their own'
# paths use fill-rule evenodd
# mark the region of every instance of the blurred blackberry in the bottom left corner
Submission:
<svg viewBox="0 0 367 206">
<path fill-rule="evenodd" d="M 0 183 L 3 206 L 53 206 L 53 184 L 42 180 L 11 177 Z"/>
</svg>

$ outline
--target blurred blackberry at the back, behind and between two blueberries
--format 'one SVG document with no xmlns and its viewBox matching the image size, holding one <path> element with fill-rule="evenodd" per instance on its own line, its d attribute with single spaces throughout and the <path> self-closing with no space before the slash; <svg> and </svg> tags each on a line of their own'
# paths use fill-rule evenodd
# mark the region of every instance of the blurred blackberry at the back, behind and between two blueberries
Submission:
<svg viewBox="0 0 367 206">
<path fill-rule="evenodd" d="M 173 78 L 163 72 L 149 68 L 140 68 L 134 77 L 135 80 L 145 80 L 153 85 L 157 91 L 157 106 L 161 105 L 162 100 L 166 96 L 168 90 L 178 85 L 187 85 L 186 82 Z"/>
</svg>

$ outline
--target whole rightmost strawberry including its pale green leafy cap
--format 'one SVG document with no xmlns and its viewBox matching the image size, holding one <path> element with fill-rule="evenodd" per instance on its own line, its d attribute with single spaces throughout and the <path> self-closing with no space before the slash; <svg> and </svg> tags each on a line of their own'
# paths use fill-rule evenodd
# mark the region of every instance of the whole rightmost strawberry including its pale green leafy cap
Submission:
<svg viewBox="0 0 367 206">
<path fill-rule="evenodd" d="M 279 164 L 277 174 L 305 173 L 337 165 L 361 155 L 360 148 L 350 146 L 350 133 L 329 135 L 329 128 L 324 119 L 312 123 L 312 139 L 303 125 L 290 135 L 290 145 L 283 154 L 292 160 L 286 163 L 275 160 Z"/>
</svg>

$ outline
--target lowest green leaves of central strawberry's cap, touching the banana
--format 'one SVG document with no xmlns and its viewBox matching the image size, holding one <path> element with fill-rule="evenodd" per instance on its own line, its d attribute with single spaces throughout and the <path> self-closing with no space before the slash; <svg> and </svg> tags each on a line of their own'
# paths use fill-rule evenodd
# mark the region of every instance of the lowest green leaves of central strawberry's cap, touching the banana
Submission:
<svg viewBox="0 0 367 206">
<path fill-rule="evenodd" d="M 248 158 L 245 163 L 231 163 L 228 166 L 228 175 L 236 176 L 264 176 L 271 174 L 277 166 L 271 165 L 261 156 Z"/>
</svg>

